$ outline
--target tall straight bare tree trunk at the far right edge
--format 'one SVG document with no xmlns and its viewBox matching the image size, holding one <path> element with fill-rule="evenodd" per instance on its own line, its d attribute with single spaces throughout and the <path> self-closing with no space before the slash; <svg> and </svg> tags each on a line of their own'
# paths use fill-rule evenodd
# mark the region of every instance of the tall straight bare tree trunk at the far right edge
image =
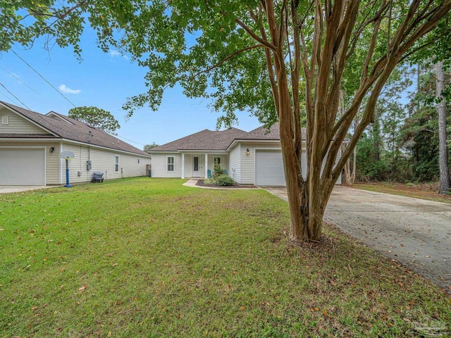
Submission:
<svg viewBox="0 0 451 338">
<path fill-rule="evenodd" d="M 448 168 L 448 145 L 446 135 L 446 103 L 442 93 L 445 90 L 445 73 L 443 72 L 443 62 L 435 65 L 437 98 L 440 103 L 438 111 L 438 162 L 440 166 L 440 188 L 439 194 L 450 192 L 450 169 Z"/>
</svg>

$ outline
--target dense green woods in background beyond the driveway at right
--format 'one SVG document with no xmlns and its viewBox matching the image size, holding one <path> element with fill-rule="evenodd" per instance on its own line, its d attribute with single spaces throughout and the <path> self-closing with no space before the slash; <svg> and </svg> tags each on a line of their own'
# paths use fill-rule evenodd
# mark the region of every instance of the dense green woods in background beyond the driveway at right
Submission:
<svg viewBox="0 0 451 338">
<path fill-rule="evenodd" d="M 451 70 L 445 74 L 445 107 L 451 108 Z M 352 155 L 355 180 L 436 182 L 439 170 L 437 75 L 432 64 L 404 66 L 393 73 L 378 99 L 376 113 Z M 358 118 L 358 117 L 357 117 Z M 448 171 L 451 116 L 447 114 Z M 350 165 L 352 173 L 352 164 Z M 350 183 L 350 182 L 348 182 Z"/>
</svg>

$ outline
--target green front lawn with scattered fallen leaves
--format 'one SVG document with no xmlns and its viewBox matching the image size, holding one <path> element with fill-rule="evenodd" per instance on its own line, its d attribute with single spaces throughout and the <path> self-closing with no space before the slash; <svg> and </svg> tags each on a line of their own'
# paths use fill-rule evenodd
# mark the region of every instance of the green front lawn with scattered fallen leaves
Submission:
<svg viewBox="0 0 451 338">
<path fill-rule="evenodd" d="M 418 337 L 451 299 L 257 189 L 124 179 L 0 195 L 0 337 Z"/>
</svg>

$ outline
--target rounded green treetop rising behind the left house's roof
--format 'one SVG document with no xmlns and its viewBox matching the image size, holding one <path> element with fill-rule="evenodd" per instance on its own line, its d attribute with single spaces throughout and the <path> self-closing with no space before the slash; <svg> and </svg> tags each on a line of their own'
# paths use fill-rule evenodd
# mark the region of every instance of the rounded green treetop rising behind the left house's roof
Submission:
<svg viewBox="0 0 451 338">
<path fill-rule="evenodd" d="M 113 134 L 121 128 L 109 111 L 97 107 L 77 107 L 69 110 L 69 117 Z"/>
</svg>

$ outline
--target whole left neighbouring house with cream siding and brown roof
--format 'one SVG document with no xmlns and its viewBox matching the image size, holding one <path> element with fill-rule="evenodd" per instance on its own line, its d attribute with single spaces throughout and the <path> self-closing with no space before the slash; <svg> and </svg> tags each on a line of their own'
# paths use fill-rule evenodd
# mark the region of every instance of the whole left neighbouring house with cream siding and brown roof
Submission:
<svg viewBox="0 0 451 338">
<path fill-rule="evenodd" d="M 0 185 L 66 182 L 62 151 L 72 151 L 70 183 L 146 175 L 149 154 L 96 127 L 51 111 L 42 115 L 0 101 Z M 89 165 L 90 163 L 90 165 Z"/>
</svg>

